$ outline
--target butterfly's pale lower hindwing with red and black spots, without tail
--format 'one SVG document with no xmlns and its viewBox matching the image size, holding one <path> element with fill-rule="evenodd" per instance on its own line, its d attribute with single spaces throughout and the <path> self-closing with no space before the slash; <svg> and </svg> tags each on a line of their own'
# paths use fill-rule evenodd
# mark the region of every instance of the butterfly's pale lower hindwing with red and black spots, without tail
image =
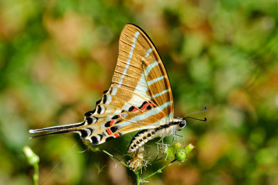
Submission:
<svg viewBox="0 0 278 185">
<path fill-rule="evenodd" d="M 108 92 L 112 93 L 112 91 Z M 84 126 L 84 129 L 90 127 L 90 129 L 95 130 L 95 132 L 92 132 L 92 134 L 87 135 L 83 139 L 89 139 L 94 145 L 104 143 L 108 139 L 116 138 L 122 134 L 135 130 L 142 130 L 142 126 L 145 127 L 145 129 L 152 128 L 154 127 L 152 125 L 153 123 L 158 124 L 158 116 L 160 115 L 162 117 L 164 115 L 163 112 L 158 112 L 158 107 L 151 101 L 145 101 L 145 99 L 138 96 L 137 100 L 142 103 L 140 106 L 137 106 L 136 102 L 126 102 L 128 96 L 124 95 L 122 89 L 119 89 L 119 93 L 123 94 L 123 96 L 119 97 L 111 94 L 104 94 L 94 114 L 88 117 L 89 119 L 99 117 L 98 122 Z M 111 96 L 111 104 L 103 104 L 106 102 L 106 96 Z M 120 104 L 124 104 L 121 109 L 116 106 Z M 149 114 L 150 109 L 157 109 L 156 112 L 158 112 L 158 114 L 156 114 L 156 112 L 154 115 Z M 99 112 L 101 112 L 101 114 L 99 114 Z M 158 125 L 155 125 L 155 127 L 157 126 Z"/>
</svg>

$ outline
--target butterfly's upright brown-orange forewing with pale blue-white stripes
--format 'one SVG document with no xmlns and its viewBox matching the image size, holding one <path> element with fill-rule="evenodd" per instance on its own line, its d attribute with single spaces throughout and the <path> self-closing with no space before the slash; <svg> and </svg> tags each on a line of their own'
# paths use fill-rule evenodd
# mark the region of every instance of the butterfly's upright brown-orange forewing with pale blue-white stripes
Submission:
<svg viewBox="0 0 278 185">
<path fill-rule="evenodd" d="M 124 87 L 151 99 L 163 110 L 167 121 L 172 121 L 172 91 L 163 62 L 151 39 L 133 24 L 126 24 L 122 30 L 111 87 Z"/>
</svg>

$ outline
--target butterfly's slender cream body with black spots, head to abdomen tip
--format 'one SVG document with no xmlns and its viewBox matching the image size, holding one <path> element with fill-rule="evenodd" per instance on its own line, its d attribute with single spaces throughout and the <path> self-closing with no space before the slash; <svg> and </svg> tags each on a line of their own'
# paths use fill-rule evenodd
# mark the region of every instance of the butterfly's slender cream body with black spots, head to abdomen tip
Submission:
<svg viewBox="0 0 278 185">
<path fill-rule="evenodd" d="M 165 125 L 153 129 L 141 130 L 133 136 L 133 139 L 131 139 L 128 152 L 135 152 L 138 148 L 144 146 L 147 141 L 156 137 L 164 138 L 165 136 L 173 135 L 185 125 L 186 120 L 183 118 L 174 118 L 173 121 L 166 123 Z"/>
</svg>

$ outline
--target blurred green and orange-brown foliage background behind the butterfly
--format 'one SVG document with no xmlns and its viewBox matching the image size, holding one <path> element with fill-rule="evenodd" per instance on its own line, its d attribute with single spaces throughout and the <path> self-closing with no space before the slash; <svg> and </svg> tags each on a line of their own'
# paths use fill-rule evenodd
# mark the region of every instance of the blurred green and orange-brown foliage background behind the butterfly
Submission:
<svg viewBox="0 0 278 185">
<path fill-rule="evenodd" d="M 1 0 L 0 184 L 31 184 L 25 145 L 40 156 L 40 184 L 133 184 L 132 173 L 86 150 L 78 134 L 28 139 L 29 129 L 77 123 L 95 108 L 126 23 L 143 28 L 161 54 L 175 116 L 208 107 L 195 115 L 207 122 L 188 119 L 179 132 L 195 146 L 188 160 L 149 184 L 278 184 L 275 0 Z M 133 134 L 101 147 L 122 157 Z M 147 151 L 156 156 L 154 142 Z"/>
</svg>

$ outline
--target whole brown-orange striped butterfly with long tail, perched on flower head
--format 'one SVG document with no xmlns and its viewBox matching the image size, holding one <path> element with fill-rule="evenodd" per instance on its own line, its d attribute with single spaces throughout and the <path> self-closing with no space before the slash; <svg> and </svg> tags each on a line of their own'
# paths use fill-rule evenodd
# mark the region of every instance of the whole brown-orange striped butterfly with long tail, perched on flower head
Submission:
<svg viewBox="0 0 278 185">
<path fill-rule="evenodd" d="M 141 28 L 126 24 L 120 35 L 111 87 L 104 91 L 95 109 L 85 113 L 81 123 L 29 132 L 47 132 L 38 136 L 77 132 L 95 146 L 141 130 L 128 149 L 136 152 L 147 141 L 170 136 L 186 125 L 185 118 L 174 118 L 173 113 L 170 82 L 156 47 Z"/>
</svg>

